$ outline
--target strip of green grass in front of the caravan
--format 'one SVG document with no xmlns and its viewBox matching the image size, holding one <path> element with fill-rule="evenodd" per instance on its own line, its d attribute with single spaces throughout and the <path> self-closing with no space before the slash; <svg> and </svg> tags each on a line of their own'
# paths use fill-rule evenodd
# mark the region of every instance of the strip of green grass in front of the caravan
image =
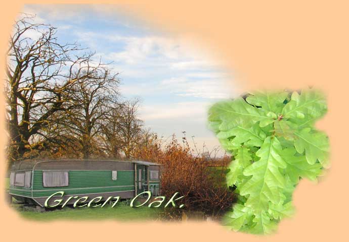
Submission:
<svg viewBox="0 0 349 242">
<path fill-rule="evenodd" d="M 138 221 L 138 220 L 156 220 L 160 209 L 139 207 L 132 208 L 125 203 L 117 204 L 114 208 L 111 206 L 104 208 L 71 208 L 55 209 L 52 211 L 29 211 L 20 204 L 12 204 L 20 216 L 36 221 L 52 221 L 52 220 L 118 220 L 118 221 Z"/>
</svg>

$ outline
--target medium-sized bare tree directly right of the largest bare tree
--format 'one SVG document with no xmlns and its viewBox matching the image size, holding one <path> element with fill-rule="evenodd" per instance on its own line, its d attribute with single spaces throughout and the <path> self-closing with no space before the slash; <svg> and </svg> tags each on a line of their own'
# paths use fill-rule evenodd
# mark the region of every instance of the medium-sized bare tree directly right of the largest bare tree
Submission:
<svg viewBox="0 0 349 242">
<path fill-rule="evenodd" d="M 112 104 L 118 101 L 119 80 L 118 73 L 112 73 L 104 66 L 99 66 L 98 71 L 88 77 L 85 72 L 80 72 L 81 78 L 76 77 L 79 81 L 69 93 L 74 107 L 69 109 L 66 126 L 77 138 L 83 158 L 89 158 L 100 149 L 94 139 L 100 136 Z"/>
</svg>

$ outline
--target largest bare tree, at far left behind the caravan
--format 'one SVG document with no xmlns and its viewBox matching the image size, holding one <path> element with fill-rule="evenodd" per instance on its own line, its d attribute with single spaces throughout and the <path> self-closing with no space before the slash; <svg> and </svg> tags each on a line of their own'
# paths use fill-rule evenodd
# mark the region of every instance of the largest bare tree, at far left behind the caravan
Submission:
<svg viewBox="0 0 349 242">
<path fill-rule="evenodd" d="M 14 24 L 7 50 L 5 92 L 10 142 L 9 160 L 45 147 L 57 139 L 57 118 L 71 108 L 68 95 L 81 79 L 94 77 L 99 65 L 89 67 L 93 53 L 81 53 L 76 43 L 60 44 L 56 28 L 36 24 L 25 15 Z M 78 71 L 76 71 L 78 70 Z M 57 127 L 56 127 L 57 128 Z"/>
</svg>

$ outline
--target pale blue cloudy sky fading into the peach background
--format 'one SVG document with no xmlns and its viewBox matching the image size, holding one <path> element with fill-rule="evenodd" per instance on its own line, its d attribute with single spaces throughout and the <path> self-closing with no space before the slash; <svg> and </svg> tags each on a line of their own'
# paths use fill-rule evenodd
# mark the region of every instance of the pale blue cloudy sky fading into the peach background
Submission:
<svg viewBox="0 0 349 242">
<path fill-rule="evenodd" d="M 164 141 L 186 132 L 189 144 L 208 151 L 219 147 L 207 128 L 207 110 L 233 97 L 232 72 L 209 46 L 190 33 L 171 33 L 146 24 L 117 7 L 96 5 L 26 5 L 38 23 L 57 27 L 58 41 L 75 42 L 112 62 L 125 98 L 139 98 L 145 126 Z M 206 151 L 206 150 L 205 150 Z M 219 152 L 223 154 L 224 152 Z"/>
</svg>

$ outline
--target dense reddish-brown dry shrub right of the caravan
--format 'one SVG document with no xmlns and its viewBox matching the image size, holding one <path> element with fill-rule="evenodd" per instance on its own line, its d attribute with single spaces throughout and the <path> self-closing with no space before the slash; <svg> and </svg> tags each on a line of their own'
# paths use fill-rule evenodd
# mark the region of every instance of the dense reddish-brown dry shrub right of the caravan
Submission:
<svg viewBox="0 0 349 242">
<path fill-rule="evenodd" d="M 135 154 L 137 159 L 164 165 L 162 196 L 170 198 L 179 192 L 184 196 L 181 200 L 185 204 L 183 209 L 202 211 L 207 216 L 219 217 L 232 206 L 235 196 L 225 182 L 225 167 L 230 158 L 211 156 L 212 152 L 201 151 L 193 154 L 185 137 L 181 144 L 174 136 L 167 145 L 162 145 L 155 136 Z M 172 209 L 169 216 L 176 218 L 183 209 Z"/>
</svg>

